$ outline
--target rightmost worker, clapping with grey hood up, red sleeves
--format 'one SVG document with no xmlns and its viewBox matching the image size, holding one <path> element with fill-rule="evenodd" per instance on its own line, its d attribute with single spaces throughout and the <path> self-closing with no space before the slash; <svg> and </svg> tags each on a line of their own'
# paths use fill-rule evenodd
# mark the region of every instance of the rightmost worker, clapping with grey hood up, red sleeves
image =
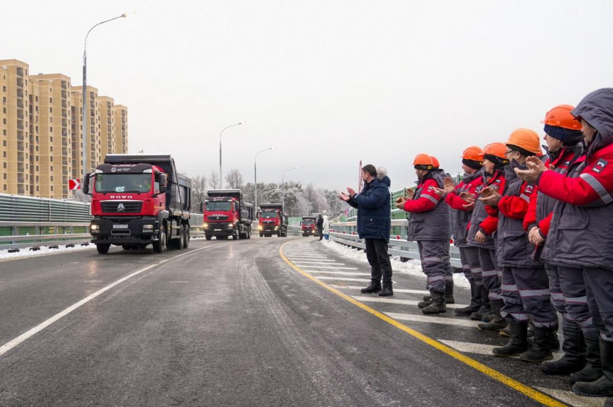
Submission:
<svg viewBox="0 0 613 407">
<path fill-rule="evenodd" d="M 613 396 L 613 88 L 584 97 L 571 114 L 581 120 L 586 154 L 571 163 L 566 176 L 528 160 L 517 171 L 558 202 L 541 258 L 550 264 L 581 267 L 592 321 L 600 332 L 603 375 L 573 385 L 577 394 Z M 613 405 L 607 399 L 606 405 Z"/>
</svg>

